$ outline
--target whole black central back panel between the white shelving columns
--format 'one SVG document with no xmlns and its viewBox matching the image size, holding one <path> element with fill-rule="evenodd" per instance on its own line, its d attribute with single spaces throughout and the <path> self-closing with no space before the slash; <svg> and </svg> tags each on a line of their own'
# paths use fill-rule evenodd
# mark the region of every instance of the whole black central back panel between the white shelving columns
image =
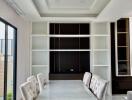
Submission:
<svg viewBox="0 0 132 100">
<path fill-rule="evenodd" d="M 50 23 L 50 35 L 62 35 L 50 37 L 51 79 L 82 79 L 82 74 L 90 71 L 89 37 L 67 37 L 89 35 L 89 27 L 89 23 Z M 81 51 L 82 49 L 86 51 Z"/>
</svg>

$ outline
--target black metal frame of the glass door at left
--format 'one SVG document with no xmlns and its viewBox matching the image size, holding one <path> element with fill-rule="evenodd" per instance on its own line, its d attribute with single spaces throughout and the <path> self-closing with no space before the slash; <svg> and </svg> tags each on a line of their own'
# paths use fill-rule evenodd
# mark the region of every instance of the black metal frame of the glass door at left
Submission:
<svg viewBox="0 0 132 100">
<path fill-rule="evenodd" d="M 16 94 L 17 94 L 17 28 L 10 24 L 9 22 L 5 21 L 3 18 L 0 17 L 0 21 L 5 24 L 5 60 L 4 60 L 4 98 L 3 100 L 7 100 L 7 59 L 8 59 L 8 26 L 14 28 L 14 60 L 13 60 L 13 100 L 16 100 Z"/>
</svg>

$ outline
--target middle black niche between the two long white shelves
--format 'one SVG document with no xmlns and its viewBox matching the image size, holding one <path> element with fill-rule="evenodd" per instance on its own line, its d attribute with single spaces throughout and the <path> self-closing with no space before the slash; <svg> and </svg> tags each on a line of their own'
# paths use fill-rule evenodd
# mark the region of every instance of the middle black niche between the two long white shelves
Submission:
<svg viewBox="0 0 132 100">
<path fill-rule="evenodd" d="M 50 49 L 89 49 L 89 37 L 51 37 Z"/>
</svg>

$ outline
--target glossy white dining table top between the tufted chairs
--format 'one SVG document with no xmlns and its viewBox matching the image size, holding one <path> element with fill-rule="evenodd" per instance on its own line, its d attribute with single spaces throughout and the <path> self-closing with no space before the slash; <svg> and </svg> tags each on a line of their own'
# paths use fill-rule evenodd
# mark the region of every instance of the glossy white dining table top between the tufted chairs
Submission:
<svg viewBox="0 0 132 100">
<path fill-rule="evenodd" d="M 81 80 L 52 80 L 37 100 L 97 100 Z"/>
</svg>

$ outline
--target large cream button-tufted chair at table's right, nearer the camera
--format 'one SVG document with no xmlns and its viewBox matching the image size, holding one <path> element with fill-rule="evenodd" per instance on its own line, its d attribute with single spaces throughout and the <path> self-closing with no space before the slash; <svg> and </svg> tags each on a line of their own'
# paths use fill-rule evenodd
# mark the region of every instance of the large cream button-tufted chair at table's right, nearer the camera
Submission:
<svg viewBox="0 0 132 100">
<path fill-rule="evenodd" d="M 93 94 L 98 98 L 98 100 L 102 100 L 105 96 L 107 89 L 108 81 L 100 78 L 97 75 L 92 75 L 90 89 Z"/>
</svg>

